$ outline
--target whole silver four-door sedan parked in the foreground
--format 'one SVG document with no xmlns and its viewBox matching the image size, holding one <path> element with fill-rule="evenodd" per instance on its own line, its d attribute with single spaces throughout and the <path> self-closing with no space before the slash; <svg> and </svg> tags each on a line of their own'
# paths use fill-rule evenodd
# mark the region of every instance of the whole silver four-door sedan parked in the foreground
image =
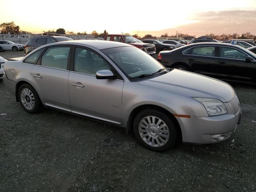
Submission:
<svg viewBox="0 0 256 192">
<path fill-rule="evenodd" d="M 42 106 L 133 130 L 146 148 L 217 143 L 236 130 L 240 104 L 227 83 L 168 69 L 111 41 L 66 41 L 4 64 L 4 84 L 29 113 Z"/>
</svg>

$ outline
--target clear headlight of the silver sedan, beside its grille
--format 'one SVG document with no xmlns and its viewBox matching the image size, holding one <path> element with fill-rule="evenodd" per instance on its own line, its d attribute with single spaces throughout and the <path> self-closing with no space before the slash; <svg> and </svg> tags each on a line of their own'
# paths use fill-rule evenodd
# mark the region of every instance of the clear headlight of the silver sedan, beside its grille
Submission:
<svg viewBox="0 0 256 192">
<path fill-rule="evenodd" d="M 214 98 L 204 98 L 204 97 L 194 97 L 195 100 L 198 100 L 204 105 L 209 116 L 223 115 L 228 113 L 224 104 Z"/>
</svg>

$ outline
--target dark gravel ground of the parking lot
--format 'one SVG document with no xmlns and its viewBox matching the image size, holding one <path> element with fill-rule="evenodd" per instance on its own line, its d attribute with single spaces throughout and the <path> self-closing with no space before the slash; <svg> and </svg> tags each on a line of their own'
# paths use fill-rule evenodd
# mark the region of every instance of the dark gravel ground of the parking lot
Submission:
<svg viewBox="0 0 256 192">
<path fill-rule="evenodd" d="M 256 89 L 232 86 L 243 116 L 230 139 L 158 153 L 115 126 L 50 109 L 28 114 L 1 81 L 0 191 L 256 192 Z"/>
</svg>

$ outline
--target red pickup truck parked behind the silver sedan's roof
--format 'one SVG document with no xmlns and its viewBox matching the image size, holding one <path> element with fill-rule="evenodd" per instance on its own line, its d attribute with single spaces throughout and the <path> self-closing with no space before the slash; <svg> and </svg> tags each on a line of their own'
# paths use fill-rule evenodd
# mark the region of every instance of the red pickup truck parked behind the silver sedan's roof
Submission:
<svg viewBox="0 0 256 192">
<path fill-rule="evenodd" d="M 122 43 L 131 44 L 149 55 L 156 54 L 156 47 L 154 44 L 148 43 L 138 43 L 131 35 L 122 35 L 122 34 L 107 34 L 104 36 L 104 40 L 106 41 L 116 41 Z"/>
</svg>

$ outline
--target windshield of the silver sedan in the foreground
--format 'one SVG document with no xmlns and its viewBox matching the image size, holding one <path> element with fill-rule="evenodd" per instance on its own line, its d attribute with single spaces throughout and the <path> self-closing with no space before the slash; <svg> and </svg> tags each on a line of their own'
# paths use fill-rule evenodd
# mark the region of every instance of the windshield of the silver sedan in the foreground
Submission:
<svg viewBox="0 0 256 192">
<path fill-rule="evenodd" d="M 104 52 L 128 78 L 152 74 L 165 68 L 152 56 L 149 56 L 136 47 L 109 48 L 102 50 L 102 52 Z"/>
</svg>

